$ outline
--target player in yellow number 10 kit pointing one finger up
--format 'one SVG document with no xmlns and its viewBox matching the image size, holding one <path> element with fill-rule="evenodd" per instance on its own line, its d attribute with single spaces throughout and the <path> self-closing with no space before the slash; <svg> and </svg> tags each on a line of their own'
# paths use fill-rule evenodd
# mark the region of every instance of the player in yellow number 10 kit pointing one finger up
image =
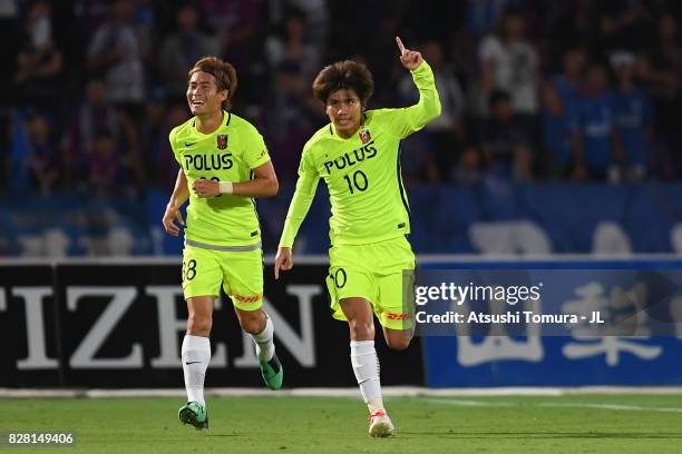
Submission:
<svg viewBox="0 0 682 454">
<path fill-rule="evenodd" d="M 393 435 L 394 427 L 381 398 L 373 315 L 391 348 L 407 348 L 413 333 L 413 312 L 402 298 L 403 270 L 415 269 L 415 255 L 407 239 L 410 216 L 400 144 L 440 115 L 431 68 L 400 38 L 396 41 L 400 62 L 419 89 L 415 106 L 367 110 L 372 76 L 350 60 L 325 67 L 313 81 L 331 124 L 303 147 L 274 269 L 279 278 L 280 270 L 292 268 L 294 238 L 323 178 L 332 210 L 327 284 L 333 316 L 348 320 L 351 364 L 370 413 L 369 433 L 381 437 Z"/>
</svg>

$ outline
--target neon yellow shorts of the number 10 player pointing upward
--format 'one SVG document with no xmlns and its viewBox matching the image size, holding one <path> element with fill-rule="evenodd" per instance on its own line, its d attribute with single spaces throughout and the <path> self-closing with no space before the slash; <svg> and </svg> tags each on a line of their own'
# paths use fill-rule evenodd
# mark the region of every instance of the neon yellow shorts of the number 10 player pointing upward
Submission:
<svg viewBox="0 0 682 454">
<path fill-rule="evenodd" d="M 329 249 L 327 288 L 332 316 L 347 320 L 340 299 L 367 299 L 381 326 L 411 329 L 415 306 L 405 292 L 413 286 L 415 254 L 407 238 Z M 411 294 L 411 292 L 410 292 Z"/>
</svg>

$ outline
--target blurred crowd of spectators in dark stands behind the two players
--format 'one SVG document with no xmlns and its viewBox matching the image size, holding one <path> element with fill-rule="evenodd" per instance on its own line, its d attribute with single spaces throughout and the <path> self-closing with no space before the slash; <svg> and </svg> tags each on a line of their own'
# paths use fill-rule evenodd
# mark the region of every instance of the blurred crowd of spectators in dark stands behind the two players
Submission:
<svg viewBox="0 0 682 454">
<path fill-rule="evenodd" d="M 413 184 L 682 179 L 682 4 L 663 0 L 0 0 L 0 191 L 170 190 L 186 73 L 233 62 L 233 110 L 283 182 L 327 122 L 322 66 L 373 73 L 370 108 L 417 100 L 393 37 L 436 73 L 442 115 L 407 140 Z"/>
</svg>

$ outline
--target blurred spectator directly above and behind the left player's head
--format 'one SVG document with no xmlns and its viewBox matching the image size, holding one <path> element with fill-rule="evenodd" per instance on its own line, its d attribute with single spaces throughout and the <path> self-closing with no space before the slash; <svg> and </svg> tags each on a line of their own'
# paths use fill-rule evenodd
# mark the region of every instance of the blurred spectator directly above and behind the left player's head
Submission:
<svg viewBox="0 0 682 454">
<path fill-rule="evenodd" d="M 160 46 L 158 62 L 167 95 L 184 100 L 187 90 L 187 71 L 204 56 L 218 53 L 218 42 L 213 36 L 198 29 L 199 12 L 192 3 L 183 6 L 176 16 L 177 29 Z"/>
</svg>

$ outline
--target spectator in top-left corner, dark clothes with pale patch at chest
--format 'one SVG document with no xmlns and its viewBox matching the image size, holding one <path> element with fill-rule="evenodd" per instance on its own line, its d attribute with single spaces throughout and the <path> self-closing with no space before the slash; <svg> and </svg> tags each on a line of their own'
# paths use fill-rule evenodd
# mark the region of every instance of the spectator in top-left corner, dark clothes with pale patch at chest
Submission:
<svg viewBox="0 0 682 454">
<path fill-rule="evenodd" d="M 27 13 L 14 85 L 29 105 L 55 107 L 61 95 L 64 55 L 53 36 L 50 3 L 32 3 Z"/>
</svg>

